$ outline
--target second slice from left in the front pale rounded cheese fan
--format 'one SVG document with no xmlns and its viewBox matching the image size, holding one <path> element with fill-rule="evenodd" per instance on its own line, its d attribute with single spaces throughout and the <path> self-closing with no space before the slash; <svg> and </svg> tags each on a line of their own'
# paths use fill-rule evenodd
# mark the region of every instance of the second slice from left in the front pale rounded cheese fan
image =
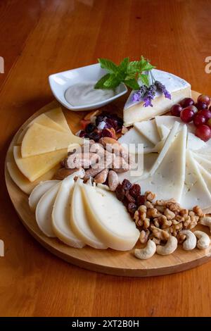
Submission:
<svg viewBox="0 0 211 331">
<path fill-rule="evenodd" d="M 58 189 L 60 188 L 61 182 L 54 185 L 41 196 L 37 207 L 36 207 L 36 221 L 39 229 L 46 235 L 47 237 L 56 237 L 55 233 L 53 232 L 52 226 L 52 211 L 53 211 L 53 204 L 56 199 L 56 194 L 58 193 Z"/>
</svg>

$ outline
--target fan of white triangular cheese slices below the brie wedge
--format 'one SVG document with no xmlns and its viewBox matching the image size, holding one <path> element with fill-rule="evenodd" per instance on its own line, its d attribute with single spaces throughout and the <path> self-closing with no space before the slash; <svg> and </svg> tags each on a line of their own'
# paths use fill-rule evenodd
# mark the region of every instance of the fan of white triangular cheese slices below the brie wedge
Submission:
<svg viewBox="0 0 211 331">
<path fill-rule="evenodd" d="M 211 206 L 211 142 L 193 134 L 193 125 L 185 125 L 171 115 L 134 123 L 119 142 L 143 144 L 143 175 L 120 174 L 151 191 L 157 199 L 174 198 L 184 208 Z M 137 150 L 137 149 L 136 149 Z"/>
</svg>

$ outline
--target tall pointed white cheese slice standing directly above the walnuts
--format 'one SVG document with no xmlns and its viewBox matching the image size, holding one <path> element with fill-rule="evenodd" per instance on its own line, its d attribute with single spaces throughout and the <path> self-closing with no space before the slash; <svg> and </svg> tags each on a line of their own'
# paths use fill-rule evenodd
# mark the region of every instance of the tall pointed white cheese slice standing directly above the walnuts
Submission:
<svg viewBox="0 0 211 331">
<path fill-rule="evenodd" d="M 185 180 L 186 136 L 187 127 L 184 125 L 162 161 L 153 167 L 155 171 L 151 170 L 146 179 L 138 181 L 143 192 L 154 192 L 157 199 L 174 198 L 180 202 Z"/>
</svg>

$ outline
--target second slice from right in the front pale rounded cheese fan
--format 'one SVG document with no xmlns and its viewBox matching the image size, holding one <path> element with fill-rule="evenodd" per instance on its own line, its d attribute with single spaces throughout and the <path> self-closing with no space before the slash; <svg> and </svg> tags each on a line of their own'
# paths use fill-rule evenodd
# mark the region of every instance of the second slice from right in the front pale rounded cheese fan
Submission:
<svg viewBox="0 0 211 331">
<path fill-rule="evenodd" d="M 89 225 L 86 206 L 84 205 L 80 188 L 82 185 L 82 182 L 77 180 L 72 192 L 72 199 L 70 201 L 70 226 L 75 235 L 82 242 L 85 242 L 85 244 L 95 249 L 107 249 L 108 246 L 96 235 L 96 232 Z"/>
</svg>

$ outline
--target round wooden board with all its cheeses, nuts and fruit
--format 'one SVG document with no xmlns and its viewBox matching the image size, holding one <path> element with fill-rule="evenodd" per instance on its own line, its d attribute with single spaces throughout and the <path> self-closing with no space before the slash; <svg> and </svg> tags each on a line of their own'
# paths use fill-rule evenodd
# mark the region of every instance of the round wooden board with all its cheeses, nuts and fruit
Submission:
<svg viewBox="0 0 211 331">
<path fill-rule="evenodd" d="M 211 256 L 210 99 L 141 61 L 148 87 L 143 73 L 123 118 L 117 101 L 87 115 L 53 101 L 20 127 L 5 166 L 13 206 L 46 249 L 132 277 L 176 273 Z M 142 173 L 132 175 L 134 165 Z"/>
</svg>

